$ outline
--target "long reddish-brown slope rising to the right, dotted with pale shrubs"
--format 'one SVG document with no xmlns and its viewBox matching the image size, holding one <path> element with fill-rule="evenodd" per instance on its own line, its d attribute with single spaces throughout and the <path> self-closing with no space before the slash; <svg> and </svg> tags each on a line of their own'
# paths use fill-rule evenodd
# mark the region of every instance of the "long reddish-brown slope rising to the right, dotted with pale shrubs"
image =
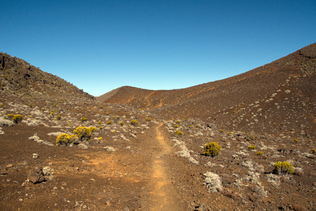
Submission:
<svg viewBox="0 0 316 211">
<path fill-rule="evenodd" d="M 316 44 L 241 75 L 187 89 L 121 87 L 100 101 L 165 119 L 199 118 L 222 129 L 315 136 Z"/>
</svg>

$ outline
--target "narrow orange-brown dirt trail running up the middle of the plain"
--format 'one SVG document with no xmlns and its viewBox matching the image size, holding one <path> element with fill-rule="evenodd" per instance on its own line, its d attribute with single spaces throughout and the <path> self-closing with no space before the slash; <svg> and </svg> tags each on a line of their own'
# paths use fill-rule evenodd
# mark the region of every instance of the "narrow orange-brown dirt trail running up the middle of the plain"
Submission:
<svg viewBox="0 0 316 211">
<path fill-rule="evenodd" d="M 156 127 L 157 145 L 161 148 L 154 155 L 152 161 L 152 202 L 149 210 L 176 210 L 178 199 L 175 198 L 178 194 L 173 189 L 171 177 L 167 174 L 168 165 L 166 159 L 173 153 L 173 148 L 169 146 L 162 134 L 161 130 L 163 123 Z"/>
</svg>

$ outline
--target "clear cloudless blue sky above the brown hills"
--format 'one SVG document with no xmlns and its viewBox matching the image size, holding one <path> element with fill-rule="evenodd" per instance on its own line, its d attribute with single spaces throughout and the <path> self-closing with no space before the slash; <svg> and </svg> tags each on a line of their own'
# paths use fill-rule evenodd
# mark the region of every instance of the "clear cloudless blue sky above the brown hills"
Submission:
<svg viewBox="0 0 316 211">
<path fill-rule="evenodd" d="M 224 79 L 316 41 L 316 1 L 1 1 L 0 51 L 100 96 Z"/>
</svg>

